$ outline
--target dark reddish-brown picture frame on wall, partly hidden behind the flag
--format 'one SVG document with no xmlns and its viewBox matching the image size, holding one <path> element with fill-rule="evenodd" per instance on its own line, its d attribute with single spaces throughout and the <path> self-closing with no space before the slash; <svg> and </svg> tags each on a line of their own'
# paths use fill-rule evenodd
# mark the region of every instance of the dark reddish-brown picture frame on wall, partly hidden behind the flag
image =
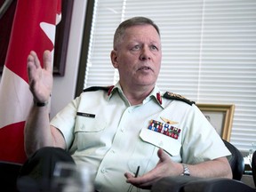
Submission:
<svg viewBox="0 0 256 192">
<path fill-rule="evenodd" d="M 0 75 L 3 72 L 4 60 L 7 53 L 7 48 L 12 32 L 12 21 L 16 9 L 17 0 L 10 1 L 4 16 L 0 18 Z M 53 75 L 64 76 L 66 68 L 66 56 L 68 52 L 68 37 L 71 26 L 71 17 L 74 0 L 61 1 L 61 21 L 56 26 L 56 36 L 54 44 L 54 58 L 53 58 Z M 4 4 L 4 0 L 0 0 L 0 7 Z M 2 30 L 3 29 L 3 30 Z"/>
</svg>

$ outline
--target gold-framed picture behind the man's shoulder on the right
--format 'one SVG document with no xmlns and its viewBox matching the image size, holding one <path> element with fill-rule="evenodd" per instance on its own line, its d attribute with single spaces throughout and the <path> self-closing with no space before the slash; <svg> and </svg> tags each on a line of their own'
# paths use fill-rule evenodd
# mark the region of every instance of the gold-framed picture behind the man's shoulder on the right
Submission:
<svg viewBox="0 0 256 192">
<path fill-rule="evenodd" d="M 233 104 L 201 104 L 196 106 L 202 111 L 223 140 L 230 140 L 235 105 Z"/>
</svg>

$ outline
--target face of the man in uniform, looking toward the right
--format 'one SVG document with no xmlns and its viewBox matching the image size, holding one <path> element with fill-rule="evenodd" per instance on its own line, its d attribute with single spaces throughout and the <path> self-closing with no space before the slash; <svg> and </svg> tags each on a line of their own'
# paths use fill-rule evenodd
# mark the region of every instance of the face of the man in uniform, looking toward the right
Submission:
<svg viewBox="0 0 256 192">
<path fill-rule="evenodd" d="M 162 49 L 160 36 L 151 25 L 127 28 L 123 40 L 111 53 L 122 86 L 153 87 L 159 74 Z"/>
</svg>

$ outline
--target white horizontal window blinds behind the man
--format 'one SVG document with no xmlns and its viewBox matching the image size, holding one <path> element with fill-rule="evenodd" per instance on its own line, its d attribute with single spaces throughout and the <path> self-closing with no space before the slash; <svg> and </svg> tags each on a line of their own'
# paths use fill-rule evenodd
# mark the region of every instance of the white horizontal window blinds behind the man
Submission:
<svg viewBox="0 0 256 192">
<path fill-rule="evenodd" d="M 248 151 L 256 141 L 256 1 L 95 0 L 84 88 L 116 84 L 113 36 L 134 16 L 160 28 L 157 85 L 196 103 L 235 104 L 230 142 Z"/>
</svg>

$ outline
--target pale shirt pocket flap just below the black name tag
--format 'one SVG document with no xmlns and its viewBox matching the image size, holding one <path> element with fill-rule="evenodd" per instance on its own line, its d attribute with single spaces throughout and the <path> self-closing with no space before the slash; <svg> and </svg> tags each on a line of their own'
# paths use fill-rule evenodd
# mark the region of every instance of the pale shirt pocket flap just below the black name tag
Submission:
<svg viewBox="0 0 256 192">
<path fill-rule="evenodd" d="M 100 116 L 76 115 L 75 132 L 102 132 L 106 128 L 106 121 Z"/>
</svg>

